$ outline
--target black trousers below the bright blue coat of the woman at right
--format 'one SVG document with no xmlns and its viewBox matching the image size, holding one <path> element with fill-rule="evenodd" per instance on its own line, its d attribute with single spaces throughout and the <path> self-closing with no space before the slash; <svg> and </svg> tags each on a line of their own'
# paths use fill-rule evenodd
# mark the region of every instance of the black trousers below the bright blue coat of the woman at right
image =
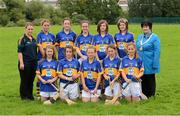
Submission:
<svg viewBox="0 0 180 116">
<path fill-rule="evenodd" d="M 155 96 L 156 79 L 155 74 L 144 74 L 142 77 L 142 92 L 149 98 Z"/>
</svg>

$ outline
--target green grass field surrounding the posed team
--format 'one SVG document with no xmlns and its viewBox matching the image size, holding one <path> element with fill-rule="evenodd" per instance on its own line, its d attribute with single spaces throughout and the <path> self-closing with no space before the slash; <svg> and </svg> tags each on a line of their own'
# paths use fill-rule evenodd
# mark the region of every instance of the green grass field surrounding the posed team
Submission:
<svg viewBox="0 0 180 116">
<path fill-rule="evenodd" d="M 53 26 L 51 32 L 56 34 L 61 27 Z M 141 33 L 139 25 L 130 25 L 129 31 L 137 38 Z M 73 26 L 80 33 L 79 26 Z M 96 26 L 90 28 L 96 33 Z M 116 26 L 110 26 L 109 32 L 115 34 Z M 139 103 L 122 101 L 118 106 L 105 106 L 99 103 L 82 103 L 68 106 L 57 102 L 44 106 L 39 101 L 21 101 L 19 97 L 20 77 L 17 69 L 17 40 L 22 36 L 23 27 L 0 28 L 0 115 L 5 114 L 98 114 L 98 115 L 180 115 L 180 25 L 153 26 L 153 32 L 161 39 L 161 73 L 157 75 L 156 98 Z M 40 31 L 35 27 L 34 35 Z M 35 94 L 35 91 L 34 91 Z"/>
</svg>

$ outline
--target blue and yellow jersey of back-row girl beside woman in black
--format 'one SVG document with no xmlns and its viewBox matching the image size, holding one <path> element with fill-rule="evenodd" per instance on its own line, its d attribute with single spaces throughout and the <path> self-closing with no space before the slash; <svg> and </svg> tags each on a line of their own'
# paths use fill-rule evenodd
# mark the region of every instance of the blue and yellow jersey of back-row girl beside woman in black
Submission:
<svg viewBox="0 0 180 116">
<path fill-rule="evenodd" d="M 42 46 L 43 49 L 46 48 L 47 45 L 55 45 L 55 36 L 52 33 L 45 34 L 41 31 L 37 35 L 37 45 Z M 38 60 L 42 58 L 41 52 L 38 50 Z"/>
</svg>

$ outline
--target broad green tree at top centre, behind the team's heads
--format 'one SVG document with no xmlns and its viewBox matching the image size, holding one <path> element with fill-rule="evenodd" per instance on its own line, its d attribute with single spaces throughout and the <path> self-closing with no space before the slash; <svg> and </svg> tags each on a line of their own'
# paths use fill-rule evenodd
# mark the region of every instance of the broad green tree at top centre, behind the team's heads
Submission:
<svg viewBox="0 0 180 116">
<path fill-rule="evenodd" d="M 100 19 L 106 19 L 109 23 L 115 23 L 117 17 L 122 15 L 122 9 L 117 0 L 60 0 L 60 8 L 69 13 L 81 14 L 94 23 Z"/>
</svg>

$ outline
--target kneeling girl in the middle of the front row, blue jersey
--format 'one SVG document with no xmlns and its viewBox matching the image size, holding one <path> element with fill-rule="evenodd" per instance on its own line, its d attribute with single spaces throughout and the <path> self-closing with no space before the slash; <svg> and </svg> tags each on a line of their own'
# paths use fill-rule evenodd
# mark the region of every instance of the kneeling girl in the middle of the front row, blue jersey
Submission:
<svg viewBox="0 0 180 116">
<path fill-rule="evenodd" d="M 93 46 L 87 48 L 88 59 L 81 64 L 81 80 L 83 85 L 82 101 L 97 102 L 101 94 L 99 83 L 101 81 L 102 68 L 96 60 L 96 49 Z"/>
</svg>

